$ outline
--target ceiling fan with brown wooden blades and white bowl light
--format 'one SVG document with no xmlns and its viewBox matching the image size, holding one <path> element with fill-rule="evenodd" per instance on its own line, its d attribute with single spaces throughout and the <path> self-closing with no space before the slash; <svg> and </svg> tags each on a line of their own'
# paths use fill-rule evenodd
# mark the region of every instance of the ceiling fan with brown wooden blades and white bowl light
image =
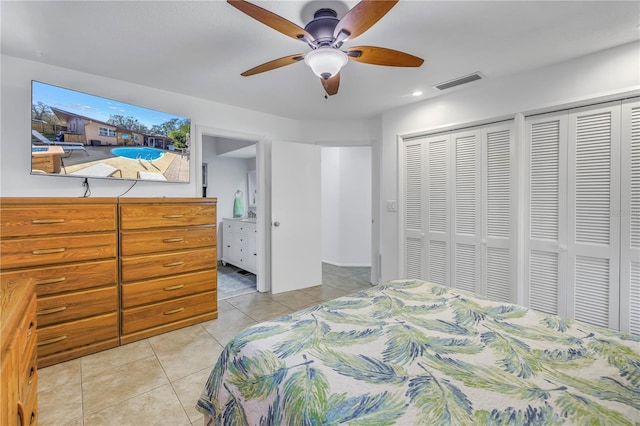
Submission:
<svg viewBox="0 0 640 426">
<path fill-rule="evenodd" d="M 338 19 L 333 9 L 319 9 L 304 28 L 248 1 L 227 2 L 274 30 L 305 42 L 311 48 L 307 53 L 285 56 L 251 68 L 241 74 L 244 77 L 304 61 L 320 77 L 322 87 L 331 96 L 338 93 L 340 70 L 349 60 L 392 67 L 419 67 L 424 62 L 417 56 L 384 47 L 358 46 L 346 51 L 340 49 L 344 42 L 353 40 L 371 28 L 398 0 L 362 0 L 342 19 Z"/>
</svg>

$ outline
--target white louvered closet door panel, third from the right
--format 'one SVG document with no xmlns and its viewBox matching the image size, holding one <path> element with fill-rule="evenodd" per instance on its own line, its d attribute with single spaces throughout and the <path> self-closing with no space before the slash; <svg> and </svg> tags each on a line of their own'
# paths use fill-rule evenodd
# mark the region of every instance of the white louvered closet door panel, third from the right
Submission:
<svg viewBox="0 0 640 426">
<path fill-rule="evenodd" d="M 568 113 L 526 120 L 524 304 L 566 315 Z"/>
</svg>

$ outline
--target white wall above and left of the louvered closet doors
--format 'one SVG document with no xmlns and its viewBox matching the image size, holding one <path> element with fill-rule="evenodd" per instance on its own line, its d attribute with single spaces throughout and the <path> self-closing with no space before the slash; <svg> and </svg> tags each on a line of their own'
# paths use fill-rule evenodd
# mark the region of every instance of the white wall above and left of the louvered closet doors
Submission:
<svg viewBox="0 0 640 426">
<path fill-rule="evenodd" d="M 589 99 L 612 99 L 640 91 L 640 43 L 531 70 L 516 76 L 472 83 L 464 90 L 385 112 L 379 146 L 379 241 L 381 281 L 398 277 L 398 214 L 386 211 L 398 200 L 398 136 L 452 129 L 516 114 L 575 106 Z M 518 135 L 516 135 L 516 138 Z M 518 143 L 518 139 L 516 139 Z"/>
</svg>

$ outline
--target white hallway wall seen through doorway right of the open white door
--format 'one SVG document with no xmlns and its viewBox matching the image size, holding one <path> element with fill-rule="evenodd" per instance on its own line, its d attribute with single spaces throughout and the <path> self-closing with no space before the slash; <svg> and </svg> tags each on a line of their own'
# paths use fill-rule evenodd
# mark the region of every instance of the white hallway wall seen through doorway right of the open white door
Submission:
<svg viewBox="0 0 640 426">
<path fill-rule="evenodd" d="M 371 266 L 371 147 L 322 148 L 322 260 Z"/>
</svg>

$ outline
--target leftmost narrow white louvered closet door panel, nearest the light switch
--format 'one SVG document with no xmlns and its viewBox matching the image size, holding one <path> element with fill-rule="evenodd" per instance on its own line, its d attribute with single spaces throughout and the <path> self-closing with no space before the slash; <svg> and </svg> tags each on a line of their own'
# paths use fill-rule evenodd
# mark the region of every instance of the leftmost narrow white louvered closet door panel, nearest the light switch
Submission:
<svg viewBox="0 0 640 426">
<path fill-rule="evenodd" d="M 427 279 L 424 250 L 426 226 L 425 142 L 417 140 L 403 145 L 404 165 L 404 276 Z"/>
</svg>

